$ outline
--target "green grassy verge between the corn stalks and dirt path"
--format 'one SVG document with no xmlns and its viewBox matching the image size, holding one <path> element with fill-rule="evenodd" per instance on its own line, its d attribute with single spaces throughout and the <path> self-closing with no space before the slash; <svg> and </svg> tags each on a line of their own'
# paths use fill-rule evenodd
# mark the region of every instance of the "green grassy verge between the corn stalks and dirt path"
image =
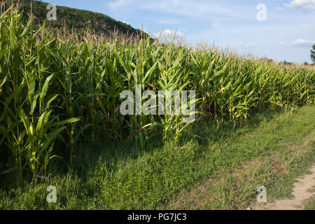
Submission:
<svg viewBox="0 0 315 224">
<path fill-rule="evenodd" d="M 196 123 L 177 143 L 151 141 L 76 148 L 70 171 L 53 163 L 48 180 L 1 175 L 0 209 L 244 209 L 258 186 L 289 197 L 315 159 L 315 107 L 256 113 L 242 127 Z M 60 167 L 64 167 L 60 169 Z M 45 200 L 56 186 L 57 203 Z"/>
</svg>

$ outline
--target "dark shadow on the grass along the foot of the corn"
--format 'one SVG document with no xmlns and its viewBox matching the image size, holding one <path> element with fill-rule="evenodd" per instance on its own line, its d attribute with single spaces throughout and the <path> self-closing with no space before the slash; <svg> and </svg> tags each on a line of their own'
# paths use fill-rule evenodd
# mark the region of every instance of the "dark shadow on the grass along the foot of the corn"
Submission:
<svg viewBox="0 0 315 224">
<path fill-rule="evenodd" d="M 244 127 L 247 130 L 253 130 L 262 123 L 264 120 L 272 120 L 272 118 L 279 116 L 282 113 L 281 109 L 265 110 L 251 115 L 251 118 L 247 120 L 247 123 L 234 124 L 215 123 L 207 119 L 202 119 L 197 123 L 188 127 L 181 137 L 179 137 L 176 145 L 184 146 L 190 141 L 198 141 L 198 144 L 202 148 L 207 148 L 211 142 L 232 138 L 239 131 L 244 131 Z M 174 135 L 170 134 L 167 141 L 172 141 Z M 73 171 L 81 179 L 87 179 L 93 175 L 94 170 L 99 167 L 100 164 L 106 164 L 106 168 L 109 172 L 115 172 L 118 162 L 126 162 L 127 160 L 137 160 L 141 155 L 146 153 L 153 153 L 160 150 L 164 146 L 162 143 L 162 136 L 157 135 L 148 141 L 148 144 L 144 148 L 131 145 L 126 146 L 124 141 L 110 141 L 110 142 L 86 142 L 80 144 L 76 151 L 76 160 L 73 163 Z"/>
</svg>

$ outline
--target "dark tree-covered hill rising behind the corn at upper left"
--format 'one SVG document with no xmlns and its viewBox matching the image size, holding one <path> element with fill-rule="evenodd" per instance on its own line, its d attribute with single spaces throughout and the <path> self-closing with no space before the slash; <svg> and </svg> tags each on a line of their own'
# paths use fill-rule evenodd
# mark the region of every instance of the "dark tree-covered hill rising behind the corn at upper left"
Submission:
<svg viewBox="0 0 315 224">
<path fill-rule="evenodd" d="M 10 3 L 11 1 L 8 1 Z M 31 4 L 32 3 L 32 4 Z M 102 13 L 94 13 L 89 10 L 80 10 L 76 8 L 69 8 L 64 6 L 57 6 L 57 21 L 48 21 L 46 19 L 48 3 L 35 0 L 20 0 L 20 10 L 23 10 L 22 20 L 28 20 L 29 15 L 32 13 L 39 24 L 47 22 L 51 27 L 62 28 L 66 25 L 68 29 L 76 29 L 82 31 L 87 27 L 93 29 L 97 34 L 104 34 L 108 36 L 112 34 L 114 30 L 118 34 L 139 35 L 140 29 L 134 29 L 125 22 L 120 22 L 110 18 Z M 143 33 L 143 32 L 142 32 Z"/>
</svg>

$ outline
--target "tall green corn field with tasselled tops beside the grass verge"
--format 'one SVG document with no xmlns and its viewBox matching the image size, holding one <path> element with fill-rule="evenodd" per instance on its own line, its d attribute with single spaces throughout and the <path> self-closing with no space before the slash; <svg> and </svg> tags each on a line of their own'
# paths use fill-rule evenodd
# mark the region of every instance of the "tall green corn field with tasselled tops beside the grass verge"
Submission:
<svg viewBox="0 0 315 224">
<path fill-rule="evenodd" d="M 0 169 L 46 172 L 57 157 L 69 164 L 81 139 L 127 139 L 144 147 L 154 134 L 177 137 L 183 116 L 122 116 L 120 92 L 195 90 L 197 119 L 232 123 L 267 107 L 314 105 L 315 71 L 258 62 L 172 41 L 125 41 L 56 35 L 0 17 Z"/>
</svg>

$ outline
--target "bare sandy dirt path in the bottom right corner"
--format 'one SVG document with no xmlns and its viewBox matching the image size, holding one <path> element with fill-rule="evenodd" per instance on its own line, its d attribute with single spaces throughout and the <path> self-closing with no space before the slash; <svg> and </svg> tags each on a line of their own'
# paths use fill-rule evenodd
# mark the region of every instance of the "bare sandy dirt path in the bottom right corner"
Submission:
<svg viewBox="0 0 315 224">
<path fill-rule="evenodd" d="M 309 199 L 315 193 L 311 193 L 311 188 L 315 186 L 315 166 L 310 170 L 312 174 L 304 176 L 303 179 L 297 180 L 294 184 L 292 200 L 278 200 L 264 207 L 254 207 L 253 210 L 301 210 L 303 209 L 303 201 Z"/>
</svg>

